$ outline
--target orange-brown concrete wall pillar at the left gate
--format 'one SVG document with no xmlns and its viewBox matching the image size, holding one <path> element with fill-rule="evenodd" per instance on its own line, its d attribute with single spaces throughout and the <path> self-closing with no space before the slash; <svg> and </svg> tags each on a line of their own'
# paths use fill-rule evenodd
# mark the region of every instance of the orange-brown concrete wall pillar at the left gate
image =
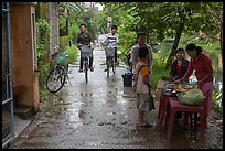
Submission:
<svg viewBox="0 0 225 151">
<path fill-rule="evenodd" d="M 35 26 L 33 26 L 35 4 L 10 3 L 10 19 L 13 97 L 17 106 L 33 107 L 36 111 L 40 96 L 35 72 L 38 69 Z"/>
</svg>

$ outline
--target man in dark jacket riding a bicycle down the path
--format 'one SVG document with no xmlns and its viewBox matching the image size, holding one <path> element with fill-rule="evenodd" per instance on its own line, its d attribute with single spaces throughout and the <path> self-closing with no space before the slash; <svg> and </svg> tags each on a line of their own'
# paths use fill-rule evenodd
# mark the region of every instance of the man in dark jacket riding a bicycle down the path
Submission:
<svg viewBox="0 0 225 151">
<path fill-rule="evenodd" d="M 89 45 L 90 42 L 94 43 L 94 40 L 92 39 L 90 34 L 86 31 L 86 24 L 81 24 L 79 25 L 79 29 L 81 29 L 81 33 L 77 35 L 77 47 L 78 50 L 81 51 L 82 47 L 79 44 L 82 45 Z M 90 72 L 94 71 L 93 68 L 93 60 L 94 60 L 94 56 L 92 55 L 89 57 L 89 69 Z M 84 64 L 84 58 L 82 57 L 82 54 L 81 54 L 81 58 L 79 58 L 79 73 L 83 72 L 83 64 Z"/>
</svg>

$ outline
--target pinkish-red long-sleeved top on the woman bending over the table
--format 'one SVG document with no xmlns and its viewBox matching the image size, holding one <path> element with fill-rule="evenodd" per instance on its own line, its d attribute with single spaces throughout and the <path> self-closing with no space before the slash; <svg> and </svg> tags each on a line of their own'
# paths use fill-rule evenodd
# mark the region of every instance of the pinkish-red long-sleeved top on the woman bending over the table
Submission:
<svg viewBox="0 0 225 151">
<path fill-rule="evenodd" d="M 204 53 L 200 53 L 197 58 L 191 58 L 189 68 L 184 75 L 184 79 L 188 79 L 195 69 L 195 76 L 197 80 L 201 80 L 206 74 L 210 74 L 204 83 L 213 82 L 213 66 L 212 61 Z"/>
</svg>

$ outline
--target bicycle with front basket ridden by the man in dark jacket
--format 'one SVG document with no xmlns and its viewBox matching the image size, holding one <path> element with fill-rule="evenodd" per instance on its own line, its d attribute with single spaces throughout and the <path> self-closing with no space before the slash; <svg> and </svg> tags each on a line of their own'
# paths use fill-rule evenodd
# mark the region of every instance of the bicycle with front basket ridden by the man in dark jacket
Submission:
<svg viewBox="0 0 225 151">
<path fill-rule="evenodd" d="M 93 48 L 89 45 L 78 44 L 81 46 L 81 55 L 84 58 L 85 82 L 88 83 L 89 57 L 93 56 Z"/>
</svg>

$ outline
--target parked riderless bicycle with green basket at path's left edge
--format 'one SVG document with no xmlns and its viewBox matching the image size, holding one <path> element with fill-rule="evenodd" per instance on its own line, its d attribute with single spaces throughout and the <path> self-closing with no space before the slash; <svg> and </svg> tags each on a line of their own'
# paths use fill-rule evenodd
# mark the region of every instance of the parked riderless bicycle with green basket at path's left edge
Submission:
<svg viewBox="0 0 225 151">
<path fill-rule="evenodd" d="M 53 45 L 55 50 L 60 48 L 57 45 Z M 58 52 L 52 55 L 54 67 L 51 69 L 46 78 L 46 88 L 50 93 L 57 93 L 65 84 L 66 78 L 69 82 L 68 72 L 68 55 L 67 52 Z M 71 84 L 71 82 L 69 82 Z"/>
</svg>

